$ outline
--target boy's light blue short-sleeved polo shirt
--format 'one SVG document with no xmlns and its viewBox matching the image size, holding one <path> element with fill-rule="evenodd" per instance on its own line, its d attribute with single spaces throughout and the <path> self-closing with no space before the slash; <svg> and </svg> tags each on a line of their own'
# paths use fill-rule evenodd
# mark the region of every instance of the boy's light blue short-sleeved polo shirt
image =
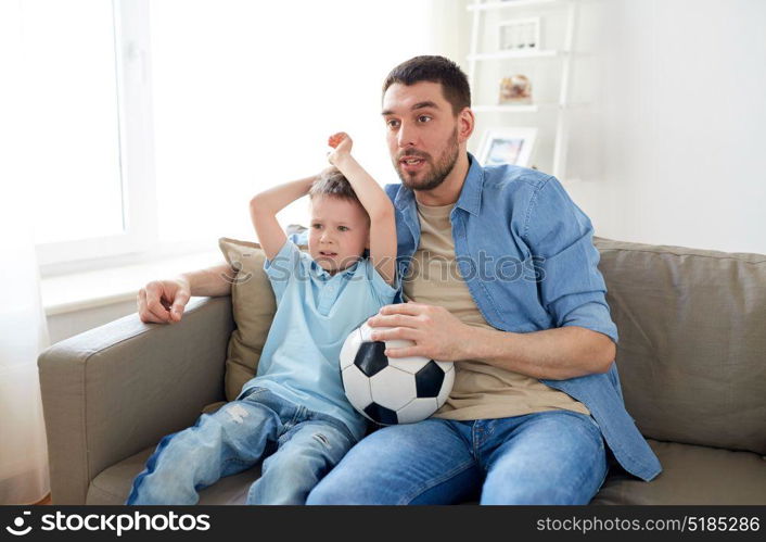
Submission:
<svg viewBox="0 0 766 542">
<path fill-rule="evenodd" d="M 292 241 L 266 261 L 264 269 L 277 298 L 277 314 L 258 371 L 242 393 L 267 388 L 342 420 L 361 439 L 367 424 L 343 391 L 341 348 L 348 333 L 393 302 L 396 289 L 368 259 L 332 276 Z"/>
</svg>

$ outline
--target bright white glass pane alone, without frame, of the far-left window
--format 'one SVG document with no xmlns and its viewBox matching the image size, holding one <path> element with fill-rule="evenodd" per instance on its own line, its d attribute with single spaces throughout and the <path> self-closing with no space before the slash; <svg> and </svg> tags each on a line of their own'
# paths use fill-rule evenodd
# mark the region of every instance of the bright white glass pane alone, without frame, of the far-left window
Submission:
<svg viewBox="0 0 766 542">
<path fill-rule="evenodd" d="M 123 231 L 112 4 L 22 2 L 28 181 L 36 241 Z M 73 197 L 77 194 L 77 197 Z"/>
</svg>

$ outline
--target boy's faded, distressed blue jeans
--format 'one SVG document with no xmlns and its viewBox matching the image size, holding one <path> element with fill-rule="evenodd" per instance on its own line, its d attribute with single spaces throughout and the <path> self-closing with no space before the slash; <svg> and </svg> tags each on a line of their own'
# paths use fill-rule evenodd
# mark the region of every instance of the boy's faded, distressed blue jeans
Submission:
<svg viewBox="0 0 766 542">
<path fill-rule="evenodd" d="M 197 490 L 264 456 L 247 504 L 304 504 L 354 443 L 342 421 L 254 388 L 159 441 L 126 504 L 195 504 Z"/>
</svg>

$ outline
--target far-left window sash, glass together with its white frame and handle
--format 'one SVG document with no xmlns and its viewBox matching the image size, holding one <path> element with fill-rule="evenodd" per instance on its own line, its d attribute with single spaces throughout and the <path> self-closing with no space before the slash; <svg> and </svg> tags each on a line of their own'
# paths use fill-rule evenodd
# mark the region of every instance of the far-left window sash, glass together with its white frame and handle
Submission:
<svg viewBox="0 0 766 542">
<path fill-rule="evenodd" d="M 39 193 L 42 274 L 146 251 L 156 213 L 145 0 L 21 7 L 25 180 Z"/>
</svg>

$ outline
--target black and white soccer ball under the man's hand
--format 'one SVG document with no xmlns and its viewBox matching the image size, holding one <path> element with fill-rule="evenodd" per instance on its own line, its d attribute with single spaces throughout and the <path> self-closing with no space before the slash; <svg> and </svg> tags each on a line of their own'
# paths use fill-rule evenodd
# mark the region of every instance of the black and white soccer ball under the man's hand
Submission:
<svg viewBox="0 0 766 542">
<path fill-rule="evenodd" d="M 452 389 L 452 363 L 421 356 L 388 358 L 386 348 L 409 346 L 412 341 L 372 341 L 371 332 L 363 324 L 341 349 L 343 388 L 354 408 L 384 426 L 420 421 L 435 413 Z"/>
</svg>

